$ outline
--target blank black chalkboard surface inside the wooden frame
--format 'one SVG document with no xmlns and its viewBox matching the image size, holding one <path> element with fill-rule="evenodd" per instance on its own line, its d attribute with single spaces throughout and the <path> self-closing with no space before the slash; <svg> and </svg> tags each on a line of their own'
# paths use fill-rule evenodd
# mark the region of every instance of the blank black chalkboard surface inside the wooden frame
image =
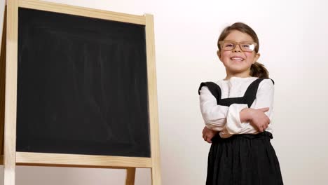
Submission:
<svg viewBox="0 0 328 185">
<path fill-rule="evenodd" d="M 16 151 L 150 157 L 144 25 L 18 11 Z"/>
</svg>

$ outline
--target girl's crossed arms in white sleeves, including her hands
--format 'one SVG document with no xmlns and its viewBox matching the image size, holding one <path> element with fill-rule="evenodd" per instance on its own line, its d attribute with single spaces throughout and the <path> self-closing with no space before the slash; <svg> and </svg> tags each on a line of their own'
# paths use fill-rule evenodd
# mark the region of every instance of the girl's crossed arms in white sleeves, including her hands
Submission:
<svg viewBox="0 0 328 185">
<path fill-rule="evenodd" d="M 273 93 L 272 81 L 265 79 L 259 85 L 252 108 L 248 108 L 247 104 L 231 104 L 226 107 L 217 105 L 217 100 L 210 90 L 203 87 L 200 90 L 200 111 L 205 121 L 205 141 L 211 142 L 212 137 L 219 131 L 228 135 L 264 132 L 273 115 Z"/>
</svg>

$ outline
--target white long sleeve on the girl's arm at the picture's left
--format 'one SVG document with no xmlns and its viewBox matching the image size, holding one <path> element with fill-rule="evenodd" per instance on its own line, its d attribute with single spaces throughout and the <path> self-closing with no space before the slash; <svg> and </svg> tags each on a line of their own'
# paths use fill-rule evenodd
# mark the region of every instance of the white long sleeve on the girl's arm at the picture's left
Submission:
<svg viewBox="0 0 328 185">
<path fill-rule="evenodd" d="M 217 99 L 215 99 L 206 86 L 201 88 L 199 100 L 200 111 L 207 128 L 217 131 L 224 129 L 228 107 L 218 105 Z"/>
</svg>

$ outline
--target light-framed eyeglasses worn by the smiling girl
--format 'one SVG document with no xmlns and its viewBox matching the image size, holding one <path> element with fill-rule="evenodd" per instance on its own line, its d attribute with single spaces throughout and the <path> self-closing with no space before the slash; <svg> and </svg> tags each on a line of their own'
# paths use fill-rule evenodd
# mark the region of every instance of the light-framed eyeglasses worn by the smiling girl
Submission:
<svg viewBox="0 0 328 185">
<path fill-rule="evenodd" d="M 254 42 L 235 42 L 235 41 L 219 41 L 221 50 L 233 50 L 235 46 L 239 45 L 239 48 L 245 52 L 252 52 L 255 50 L 257 43 Z"/>
</svg>

